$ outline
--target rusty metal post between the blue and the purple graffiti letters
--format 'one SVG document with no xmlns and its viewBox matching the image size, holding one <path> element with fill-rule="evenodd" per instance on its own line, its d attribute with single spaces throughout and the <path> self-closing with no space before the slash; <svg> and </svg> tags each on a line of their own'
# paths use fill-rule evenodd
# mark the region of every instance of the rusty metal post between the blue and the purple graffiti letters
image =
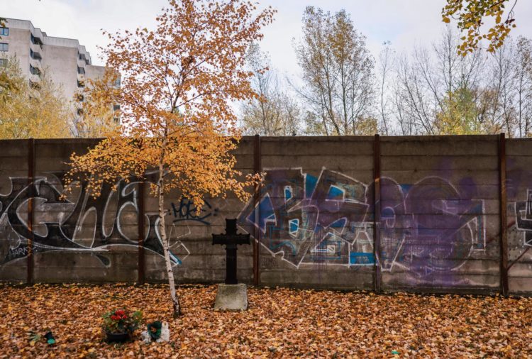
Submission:
<svg viewBox="0 0 532 359">
<path fill-rule="evenodd" d="M 380 138 L 375 135 L 373 140 L 373 256 L 375 258 L 375 292 L 381 291 L 380 271 Z"/>
</svg>

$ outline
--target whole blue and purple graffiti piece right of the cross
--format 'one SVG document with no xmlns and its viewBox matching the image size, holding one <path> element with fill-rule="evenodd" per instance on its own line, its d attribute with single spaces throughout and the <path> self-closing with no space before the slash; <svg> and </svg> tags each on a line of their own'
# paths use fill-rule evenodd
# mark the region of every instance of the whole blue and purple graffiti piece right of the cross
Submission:
<svg viewBox="0 0 532 359">
<path fill-rule="evenodd" d="M 400 266 L 426 275 L 458 269 L 471 253 L 484 250 L 482 200 L 460 193 L 440 177 L 403 186 L 386 177 L 381 181 L 377 258 L 372 188 L 326 168 L 317 177 L 301 168 L 267 170 L 257 204 L 250 201 L 245 206 L 239 223 L 255 227 L 260 233 L 256 239 L 294 267 L 358 267 L 377 261 L 385 271 Z"/>
</svg>

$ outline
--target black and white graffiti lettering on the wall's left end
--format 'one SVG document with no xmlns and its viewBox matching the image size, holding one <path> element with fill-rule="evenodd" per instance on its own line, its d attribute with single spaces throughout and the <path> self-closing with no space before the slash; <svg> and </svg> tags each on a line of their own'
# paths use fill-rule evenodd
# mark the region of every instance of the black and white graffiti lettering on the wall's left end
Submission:
<svg viewBox="0 0 532 359">
<path fill-rule="evenodd" d="M 77 194 L 61 198 L 62 174 L 37 177 L 28 185 L 27 177 L 11 177 L 11 191 L 0 194 L 0 265 L 28 255 L 28 238 L 33 238 L 34 253 L 74 251 L 95 255 L 105 266 L 109 254 L 119 246 L 138 245 L 138 182 L 120 180 L 116 187 L 104 184 L 101 196 L 94 199 L 82 183 Z M 115 189 L 116 188 L 116 189 Z M 75 192 L 75 191 L 74 191 Z M 34 206 L 33 231 L 28 228 L 28 199 Z M 145 214 L 147 230 L 143 245 L 162 256 L 157 214 Z M 189 250 L 179 241 L 177 231 L 170 231 L 171 258 L 179 265 Z M 173 236 L 172 236 L 173 233 Z M 180 258 L 174 253 L 184 253 Z"/>
</svg>

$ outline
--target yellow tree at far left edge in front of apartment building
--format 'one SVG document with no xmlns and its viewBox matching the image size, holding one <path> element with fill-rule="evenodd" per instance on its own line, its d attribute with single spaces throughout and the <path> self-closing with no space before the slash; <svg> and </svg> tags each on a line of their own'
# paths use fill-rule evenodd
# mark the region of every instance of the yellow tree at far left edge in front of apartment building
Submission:
<svg viewBox="0 0 532 359">
<path fill-rule="evenodd" d="M 47 70 L 28 82 L 16 57 L 0 67 L 0 138 L 69 137 L 68 102 Z"/>
</svg>

